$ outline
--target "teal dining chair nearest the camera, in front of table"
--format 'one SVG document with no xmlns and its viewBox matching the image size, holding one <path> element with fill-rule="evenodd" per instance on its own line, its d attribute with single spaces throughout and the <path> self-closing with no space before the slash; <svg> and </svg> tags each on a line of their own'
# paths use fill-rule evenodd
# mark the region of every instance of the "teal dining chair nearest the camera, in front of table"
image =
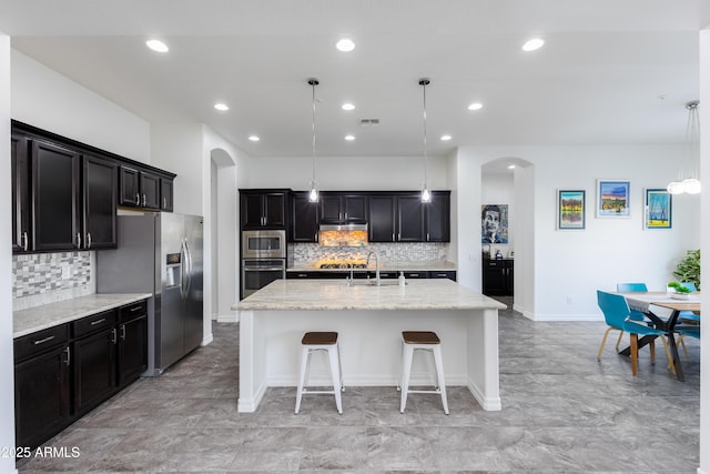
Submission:
<svg viewBox="0 0 710 474">
<path fill-rule="evenodd" d="M 641 335 L 656 335 L 660 336 L 661 342 L 663 343 L 663 347 L 666 349 L 666 356 L 671 361 L 670 353 L 668 351 L 668 344 L 666 343 L 666 339 L 663 336 L 668 335 L 666 331 L 661 331 L 659 329 L 649 326 L 643 322 L 632 320 L 631 310 L 629 309 L 629 304 L 626 301 L 626 297 L 620 294 L 608 293 L 605 291 L 597 290 L 597 304 L 599 309 L 604 313 L 604 319 L 609 326 L 607 331 L 604 333 L 604 339 L 601 340 L 601 345 L 599 346 L 599 352 L 597 353 L 597 359 L 601 359 L 601 352 L 604 351 L 605 343 L 607 342 L 607 336 L 610 331 L 622 331 L 628 332 L 631 337 L 631 373 L 633 376 L 638 373 L 638 357 L 639 357 L 639 347 L 638 347 L 638 336 Z M 649 349 L 651 352 L 651 362 L 656 362 L 656 346 L 653 341 L 649 343 Z M 672 369 L 672 367 L 671 367 Z"/>
</svg>

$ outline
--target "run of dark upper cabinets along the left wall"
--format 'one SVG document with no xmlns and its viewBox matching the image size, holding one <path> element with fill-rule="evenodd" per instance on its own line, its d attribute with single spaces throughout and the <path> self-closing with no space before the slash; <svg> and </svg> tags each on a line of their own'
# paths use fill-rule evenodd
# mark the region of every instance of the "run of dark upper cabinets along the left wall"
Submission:
<svg viewBox="0 0 710 474">
<path fill-rule="evenodd" d="M 120 157 L 13 121 L 12 251 L 115 248 L 123 165 Z M 141 206 L 172 210 L 174 174 L 146 170 L 134 170 Z"/>
</svg>

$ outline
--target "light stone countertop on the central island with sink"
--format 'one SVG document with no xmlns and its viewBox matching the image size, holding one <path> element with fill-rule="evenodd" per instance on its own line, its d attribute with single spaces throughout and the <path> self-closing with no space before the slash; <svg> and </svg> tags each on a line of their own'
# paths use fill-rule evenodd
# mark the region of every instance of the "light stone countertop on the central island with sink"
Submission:
<svg viewBox="0 0 710 474">
<path fill-rule="evenodd" d="M 355 280 L 276 280 L 234 304 L 232 310 L 504 310 L 507 306 L 446 279 L 396 280 L 375 286 Z"/>
</svg>

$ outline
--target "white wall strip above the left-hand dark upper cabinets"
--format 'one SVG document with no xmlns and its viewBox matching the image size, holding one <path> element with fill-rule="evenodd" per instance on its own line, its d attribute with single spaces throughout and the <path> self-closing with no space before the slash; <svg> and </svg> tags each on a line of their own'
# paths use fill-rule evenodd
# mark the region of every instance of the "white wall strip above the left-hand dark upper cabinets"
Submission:
<svg viewBox="0 0 710 474">
<path fill-rule="evenodd" d="M 150 163 L 149 123 L 11 50 L 12 119 Z"/>
</svg>

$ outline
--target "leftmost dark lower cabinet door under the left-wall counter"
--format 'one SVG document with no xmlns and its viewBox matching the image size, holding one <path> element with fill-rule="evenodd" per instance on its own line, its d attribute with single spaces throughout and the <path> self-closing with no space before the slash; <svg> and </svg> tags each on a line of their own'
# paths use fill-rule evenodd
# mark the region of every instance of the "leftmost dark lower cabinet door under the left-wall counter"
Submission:
<svg viewBox="0 0 710 474">
<path fill-rule="evenodd" d="M 36 447 L 70 420 L 69 347 L 59 346 L 14 366 L 18 446 Z"/>
</svg>

